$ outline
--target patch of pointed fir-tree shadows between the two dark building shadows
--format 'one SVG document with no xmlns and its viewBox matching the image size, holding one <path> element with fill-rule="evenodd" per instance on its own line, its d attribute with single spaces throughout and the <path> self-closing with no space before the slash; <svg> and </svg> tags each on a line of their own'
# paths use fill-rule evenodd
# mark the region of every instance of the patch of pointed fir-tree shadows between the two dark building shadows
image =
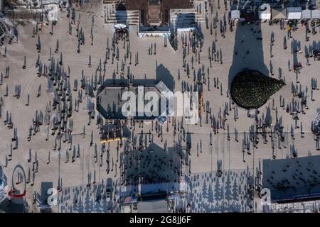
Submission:
<svg viewBox="0 0 320 227">
<path fill-rule="evenodd" d="M 250 211 L 252 185 L 249 170 L 227 170 L 222 177 L 213 177 L 216 172 L 191 175 L 191 190 L 188 202 L 193 212 L 241 212 Z"/>
</svg>

